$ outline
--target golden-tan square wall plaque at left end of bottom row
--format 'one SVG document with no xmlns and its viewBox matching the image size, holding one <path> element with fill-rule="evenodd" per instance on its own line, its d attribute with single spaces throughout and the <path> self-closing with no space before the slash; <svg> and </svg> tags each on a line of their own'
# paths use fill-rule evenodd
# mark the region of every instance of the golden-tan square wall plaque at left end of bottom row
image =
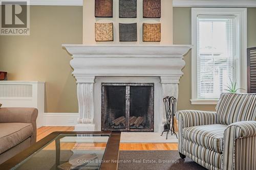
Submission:
<svg viewBox="0 0 256 170">
<path fill-rule="evenodd" d="M 113 40 L 113 23 L 95 23 L 95 41 Z"/>
</svg>

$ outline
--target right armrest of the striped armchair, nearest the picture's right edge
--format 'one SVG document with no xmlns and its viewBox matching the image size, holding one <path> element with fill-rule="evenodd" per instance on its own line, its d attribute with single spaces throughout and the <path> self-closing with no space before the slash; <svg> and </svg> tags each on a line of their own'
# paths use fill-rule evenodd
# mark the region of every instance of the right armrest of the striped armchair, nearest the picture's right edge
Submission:
<svg viewBox="0 0 256 170">
<path fill-rule="evenodd" d="M 246 142 L 241 139 L 245 139 Z M 246 150 L 244 159 L 247 157 L 246 160 L 250 161 L 248 155 L 256 153 L 252 149 L 256 147 L 255 140 L 256 121 L 242 121 L 228 125 L 224 132 L 223 169 L 236 169 L 236 156 L 239 156 L 239 159 L 244 156 L 241 153 L 239 154 L 241 150 Z M 254 154 L 249 154 L 249 152 L 254 152 Z M 250 164 L 250 162 L 247 162 L 247 164 Z"/>
</svg>

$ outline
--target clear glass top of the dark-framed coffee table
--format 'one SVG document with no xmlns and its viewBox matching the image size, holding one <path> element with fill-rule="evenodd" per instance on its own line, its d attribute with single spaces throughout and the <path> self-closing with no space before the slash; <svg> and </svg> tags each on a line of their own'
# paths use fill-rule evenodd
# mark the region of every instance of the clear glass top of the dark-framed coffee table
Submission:
<svg viewBox="0 0 256 170">
<path fill-rule="evenodd" d="M 59 134 L 12 169 L 99 169 L 110 134 Z"/>
</svg>

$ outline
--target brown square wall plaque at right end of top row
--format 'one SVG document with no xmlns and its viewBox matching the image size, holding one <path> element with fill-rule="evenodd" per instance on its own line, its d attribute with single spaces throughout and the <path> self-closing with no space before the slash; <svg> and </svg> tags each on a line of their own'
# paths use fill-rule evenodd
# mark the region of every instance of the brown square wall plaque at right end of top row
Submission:
<svg viewBox="0 0 256 170">
<path fill-rule="evenodd" d="M 143 18 L 161 18 L 161 0 L 143 0 Z"/>
</svg>

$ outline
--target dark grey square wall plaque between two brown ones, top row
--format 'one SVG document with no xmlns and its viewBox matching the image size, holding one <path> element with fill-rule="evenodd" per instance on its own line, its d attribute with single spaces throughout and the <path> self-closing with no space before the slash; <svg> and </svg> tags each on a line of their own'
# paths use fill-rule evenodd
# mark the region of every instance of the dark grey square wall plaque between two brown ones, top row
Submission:
<svg viewBox="0 0 256 170">
<path fill-rule="evenodd" d="M 137 0 L 119 0 L 119 18 L 136 18 Z"/>
</svg>

